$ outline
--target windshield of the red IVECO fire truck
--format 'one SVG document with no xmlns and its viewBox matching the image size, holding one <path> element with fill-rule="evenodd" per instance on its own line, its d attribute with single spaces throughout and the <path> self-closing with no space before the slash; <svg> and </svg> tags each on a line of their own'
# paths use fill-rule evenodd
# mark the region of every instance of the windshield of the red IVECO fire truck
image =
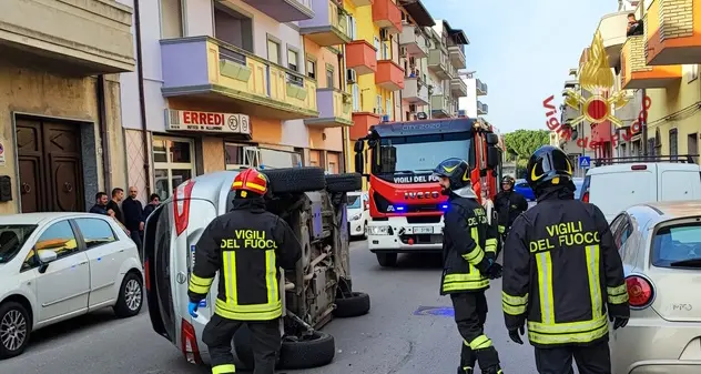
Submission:
<svg viewBox="0 0 701 374">
<path fill-rule="evenodd" d="M 467 159 L 471 142 L 469 132 L 380 138 L 373 149 L 373 174 L 430 172 L 445 159 Z"/>
</svg>

